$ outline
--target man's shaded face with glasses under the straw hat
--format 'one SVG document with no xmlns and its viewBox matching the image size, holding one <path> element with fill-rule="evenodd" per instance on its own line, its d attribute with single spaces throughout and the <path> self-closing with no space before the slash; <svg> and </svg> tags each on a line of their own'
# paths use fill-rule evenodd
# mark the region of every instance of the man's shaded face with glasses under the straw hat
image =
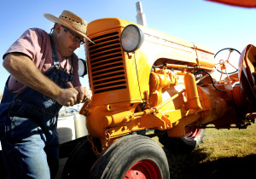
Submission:
<svg viewBox="0 0 256 179">
<path fill-rule="evenodd" d="M 70 56 L 75 49 L 80 47 L 83 37 L 67 29 L 65 26 L 56 25 L 55 31 L 57 32 L 57 48 L 61 51 L 61 55 Z"/>
</svg>

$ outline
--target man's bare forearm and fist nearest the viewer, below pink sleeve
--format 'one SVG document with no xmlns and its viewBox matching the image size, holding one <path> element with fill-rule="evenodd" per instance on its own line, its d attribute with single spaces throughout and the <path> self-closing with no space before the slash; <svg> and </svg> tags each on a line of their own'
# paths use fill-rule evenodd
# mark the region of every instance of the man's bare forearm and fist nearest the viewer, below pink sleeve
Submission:
<svg viewBox="0 0 256 179">
<path fill-rule="evenodd" d="M 68 107 L 77 103 L 79 92 L 73 89 L 71 83 L 68 84 L 68 89 L 61 89 L 57 84 L 44 76 L 26 55 L 20 53 L 6 55 L 3 67 L 22 84 L 55 99 L 61 105 Z"/>
</svg>

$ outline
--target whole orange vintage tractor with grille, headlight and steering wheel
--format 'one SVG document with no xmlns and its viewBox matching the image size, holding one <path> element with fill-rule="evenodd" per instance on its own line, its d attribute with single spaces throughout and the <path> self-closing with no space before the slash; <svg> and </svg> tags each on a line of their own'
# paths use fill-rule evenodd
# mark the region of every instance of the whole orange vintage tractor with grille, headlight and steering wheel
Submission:
<svg viewBox="0 0 256 179">
<path fill-rule="evenodd" d="M 241 55 L 230 48 L 214 55 L 116 18 L 94 20 L 87 31 L 96 43 L 86 45 L 92 99 L 80 111 L 89 136 L 69 155 L 63 178 L 170 178 L 166 154 L 150 136 L 188 152 L 207 127 L 245 129 L 254 122 L 253 45 Z"/>
</svg>

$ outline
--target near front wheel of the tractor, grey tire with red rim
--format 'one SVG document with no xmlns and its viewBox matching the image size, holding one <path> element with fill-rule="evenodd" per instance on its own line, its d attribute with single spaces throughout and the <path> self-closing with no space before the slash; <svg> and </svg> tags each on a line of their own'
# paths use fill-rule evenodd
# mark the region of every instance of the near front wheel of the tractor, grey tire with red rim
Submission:
<svg viewBox="0 0 256 179">
<path fill-rule="evenodd" d="M 156 141 L 128 135 L 102 153 L 90 171 L 91 179 L 170 178 L 166 153 Z"/>
</svg>

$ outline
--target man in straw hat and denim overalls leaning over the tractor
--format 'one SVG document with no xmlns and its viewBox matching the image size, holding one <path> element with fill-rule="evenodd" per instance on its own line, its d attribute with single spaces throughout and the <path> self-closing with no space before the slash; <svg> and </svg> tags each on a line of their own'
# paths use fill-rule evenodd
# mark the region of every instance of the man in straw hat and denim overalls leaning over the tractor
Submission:
<svg viewBox="0 0 256 179">
<path fill-rule="evenodd" d="M 9 178 L 54 178 L 58 170 L 57 114 L 90 100 L 81 86 L 78 57 L 87 22 L 64 10 L 53 32 L 28 29 L 3 55 L 11 74 L 0 104 L 0 137 Z M 91 42 L 91 41 L 90 41 Z M 91 42 L 92 43 L 92 42 Z"/>
</svg>

